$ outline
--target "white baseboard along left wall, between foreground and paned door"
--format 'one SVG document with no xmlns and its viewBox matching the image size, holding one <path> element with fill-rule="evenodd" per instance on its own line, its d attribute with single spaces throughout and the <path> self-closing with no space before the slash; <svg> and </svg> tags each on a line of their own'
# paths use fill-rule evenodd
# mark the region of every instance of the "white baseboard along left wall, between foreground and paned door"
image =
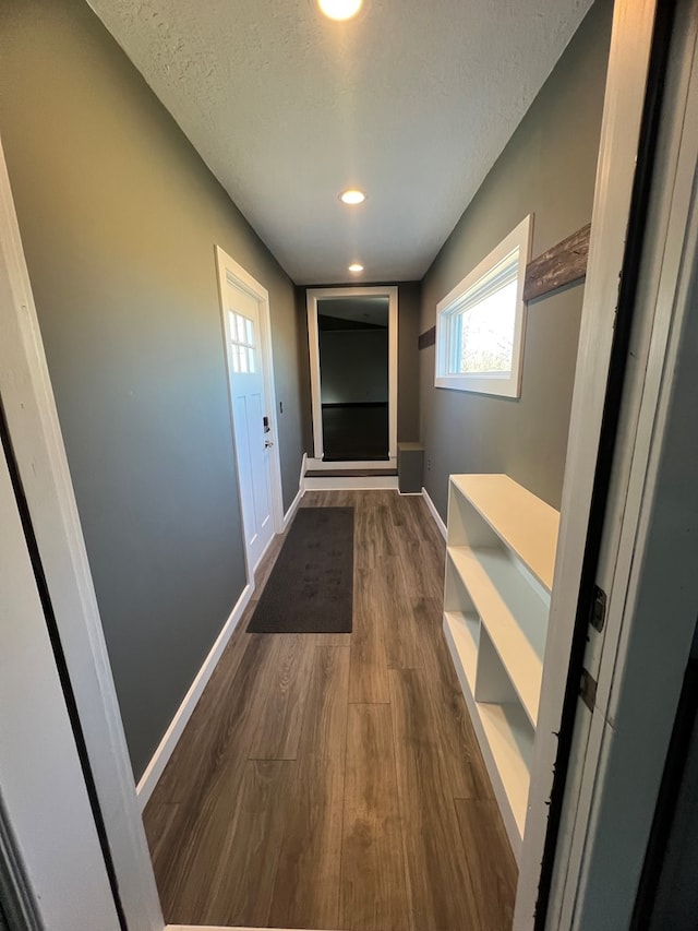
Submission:
<svg viewBox="0 0 698 931">
<path fill-rule="evenodd" d="M 143 811 L 143 809 L 147 804 L 148 799 L 153 795 L 153 790 L 157 786 L 158 779 L 163 775 L 163 771 L 167 765 L 167 761 L 172 755 L 172 752 L 177 747 L 177 742 L 182 736 L 182 731 L 184 730 L 188 720 L 192 716 L 192 713 L 196 707 L 196 703 L 201 699 L 202 692 L 206 688 L 206 684 L 210 679 L 214 669 L 216 668 L 216 664 L 220 659 L 226 644 L 230 640 L 230 635 L 238 625 L 238 621 L 242 617 L 242 612 L 246 608 L 253 592 L 254 585 L 251 584 L 245 585 L 245 587 L 242 589 L 242 595 L 240 595 L 240 597 L 238 598 L 238 604 L 234 606 L 230 617 L 224 624 L 224 628 L 218 634 L 216 642 L 212 646 L 208 656 L 204 660 L 204 665 L 201 667 L 201 669 L 196 673 L 196 678 L 190 685 L 189 692 L 186 693 L 186 695 L 184 695 L 184 701 L 177 709 L 177 714 L 170 721 L 170 726 L 165 731 L 165 737 L 163 738 L 163 740 L 160 740 L 157 750 L 153 754 L 153 759 L 151 760 L 145 769 L 145 773 L 143 774 L 143 776 L 141 776 L 139 785 L 135 789 L 136 796 L 139 797 L 139 805 L 141 808 L 141 811 Z"/>
</svg>

